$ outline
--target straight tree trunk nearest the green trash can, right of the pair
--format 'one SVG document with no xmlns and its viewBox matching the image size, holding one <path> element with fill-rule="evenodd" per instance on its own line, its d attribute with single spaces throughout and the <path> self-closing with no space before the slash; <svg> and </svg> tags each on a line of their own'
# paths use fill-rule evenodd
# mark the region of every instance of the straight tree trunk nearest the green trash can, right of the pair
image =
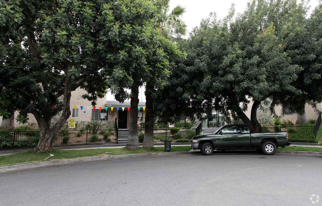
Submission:
<svg viewBox="0 0 322 206">
<path fill-rule="evenodd" d="M 144 149 L 152 149 L 154 147 L 154 113 L 152 106 L 151 94 L 153 92 L 154 86 L 147 82 L 146 90 L 145 90 L 145 98 L 146 98 L 146 108 L 145 108 L 145 132 L 143 139 L 143 148 Z"/>
</svg>

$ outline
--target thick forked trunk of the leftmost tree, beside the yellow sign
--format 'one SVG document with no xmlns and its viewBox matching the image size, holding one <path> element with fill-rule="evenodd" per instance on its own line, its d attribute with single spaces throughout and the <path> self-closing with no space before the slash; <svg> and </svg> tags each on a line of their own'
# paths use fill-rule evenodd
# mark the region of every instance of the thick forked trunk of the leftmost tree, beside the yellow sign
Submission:
<svg viewBox="0 0 322 206">
<path fill-rule="evenodd" d="M 54 151 L 55 149 L 52 145 L 52 138 L 55 136 L 55 134 L 57 134 L 57 132 L 66 123 L 67 119 L 71 116 L 71 77 L 68 74 L 66 74 L 64 85 L 65 90 L 62 116 L 52 128 L 50 128 L 52 116 L 42 115 L 39 111 L 34 111 L 32 113 L 37 120 L 40 135 L 38 145 L 33 148 L 33 151 L 35 152 Z M 54 105 L 52 105 L 52 107 L 53 106 Z"/>
</svg>

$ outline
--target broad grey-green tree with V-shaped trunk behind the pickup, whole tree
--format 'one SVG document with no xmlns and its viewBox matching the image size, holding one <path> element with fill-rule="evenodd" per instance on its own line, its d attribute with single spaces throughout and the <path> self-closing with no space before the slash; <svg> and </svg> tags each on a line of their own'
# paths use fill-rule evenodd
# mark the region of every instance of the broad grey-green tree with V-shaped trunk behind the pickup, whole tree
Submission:
<svg viewBox="0 0 322 206">
<path fill-rule="evenodd" d="M 261 102 L 271 98 L 273 104 L 285 104 L 283 95 L 303 94 L 292 85 L 302 68 L 286 51 L 305 25 L 307 10 L 295 1 L 254 0 L 235 20 L 233 8 L 223 20 L 215 14 L 203 20 L 188 40 L 178 42 L 187 58 L 171 71 L 169 92 L 160 101 L 168 109 L 163 117 L 169 113 L 165 111 L 211 116 L 214 108 L 226 121 L 238 117 L 251 132 L 263 131 L 256 117 Z M 248 118 L 245 111 L 250 101 Z"/>
</svg>

